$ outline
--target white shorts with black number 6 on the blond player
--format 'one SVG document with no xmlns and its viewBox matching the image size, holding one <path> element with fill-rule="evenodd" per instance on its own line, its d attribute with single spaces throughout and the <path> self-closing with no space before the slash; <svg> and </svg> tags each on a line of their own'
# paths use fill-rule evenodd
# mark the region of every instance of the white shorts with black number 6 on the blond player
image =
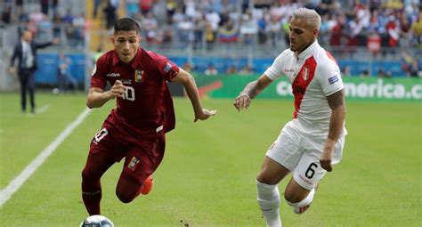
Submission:
<svg viewBox="0 0 422 227">
<path fill-rule="evenodd" d="M 301 133 L 290 121 L 283 127 L 266 156 L 292 171 L 293 179 L 311 191 L 327 172 L 320 165 L 326 139 Z M 331 164 L 340 162 L 344 145 L 345 136 L 342 136 L 336 143 Z"/>
</svg>

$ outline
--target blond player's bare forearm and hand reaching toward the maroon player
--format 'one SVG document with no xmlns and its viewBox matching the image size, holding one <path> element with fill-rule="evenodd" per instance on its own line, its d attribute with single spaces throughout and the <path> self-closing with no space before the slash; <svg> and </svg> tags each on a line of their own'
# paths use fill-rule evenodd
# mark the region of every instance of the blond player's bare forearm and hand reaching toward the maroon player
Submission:
<svg viewBox="0 0 422 227">
<path fill-rule="evenodd" d="M 259 93 L 261 93 L 265 87 L 270 85 L 272 80 L 263 74 L 259 77 L 256 81 L 250 82 L 248 85 L 245 86 L 245 89 L 239 96 L 234 99 L 234 107 L 238 109 L 238 111 L 242 109 L 248 109 L 250 102 L 253 98 L 255 98 Z"/>
</svg>

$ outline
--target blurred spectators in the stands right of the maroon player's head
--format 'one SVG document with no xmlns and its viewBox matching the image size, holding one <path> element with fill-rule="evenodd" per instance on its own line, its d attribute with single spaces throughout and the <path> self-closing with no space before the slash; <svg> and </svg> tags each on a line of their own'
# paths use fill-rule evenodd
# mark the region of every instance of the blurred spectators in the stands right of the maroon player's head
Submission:
<svg viewBox="0 0 422 227">
<path fill-rule="evenodd" d="M 148 3 L 148 4 L 147 4 Z M 194 1 L 167 0 L 166 20 L 154 14 L 154 1 L 126 1 L 129 16 L 142 22 L 149 44 L 219 43 L 288 44 L 288 20 L 300 7 L 321 14 L 319 42 L 332 47 L 381 48 L 421 46 L 419 1 Z M 252 7 L 250 7 L 252 6 Z M 158 21 L 161 21 L 159 23 Z M 204 42 L 205 41 L 205 42 Z"/>
</svg>

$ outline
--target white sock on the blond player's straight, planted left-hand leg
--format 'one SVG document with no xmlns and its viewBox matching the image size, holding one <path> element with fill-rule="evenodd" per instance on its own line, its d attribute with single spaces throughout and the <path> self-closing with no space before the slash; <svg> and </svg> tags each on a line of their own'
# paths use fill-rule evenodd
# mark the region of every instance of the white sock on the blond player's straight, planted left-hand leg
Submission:
<svg viewBox="0 0 422 227">
<path fill-rule="evenodd" d="M 267 226 L 280 227 L 280 192 L 277 184 L 270 185 L 256 180 L 256 189 L 258 191 L 258 204 L 261 207 Z"/>
</svg>

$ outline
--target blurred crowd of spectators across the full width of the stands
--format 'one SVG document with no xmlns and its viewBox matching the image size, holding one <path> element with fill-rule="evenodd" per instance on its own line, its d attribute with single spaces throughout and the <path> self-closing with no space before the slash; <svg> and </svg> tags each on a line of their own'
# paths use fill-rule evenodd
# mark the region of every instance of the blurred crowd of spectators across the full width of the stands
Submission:
<svg viewBox="0 0 422 227">
<path fill-rule="evenodd" d="M 419 0 L 92 1 L 93 11 L 87 12 L 85 5 L 69 7 L 72 1 L 4 0 L 0 26 L 20 25 L 33 31 L 40 42 L 60 37 L 70 46 L 82 47 L 93 20 L 101 20 L 101 29 L 106 32 L 118 17 L 126 16 L 142 24 L 146 47 L 190 45 L 193 50 L 209 52 L 216 45 L 227 44 L 280 50 L 288 46 L 291 12 L 307 7 L 321 14 L 319 42 L 334 54 L 354 53 L 358 46 L 374 56 L 401 55 L 404 51 L 415 58 L 415 50 L 420 53 L 422 49 Z M 39 7 L 28 8 L 27 2 L 38 2 Z"/>
</svg>

